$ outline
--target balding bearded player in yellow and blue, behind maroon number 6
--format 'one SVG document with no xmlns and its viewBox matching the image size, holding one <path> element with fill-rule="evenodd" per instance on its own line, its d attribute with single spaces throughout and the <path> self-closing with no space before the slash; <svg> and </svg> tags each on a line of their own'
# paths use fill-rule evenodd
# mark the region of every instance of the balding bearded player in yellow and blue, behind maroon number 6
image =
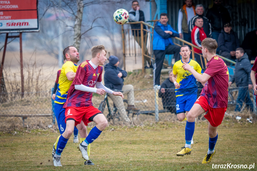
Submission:
<svg viewBox="0 0 257 171">
<path fill-rule="evenodd" d="M 77 71 L 77 62 L 80 60 L 80 55 L 77 49 L 74 46 L 68 46 L 63 50 L 63 58 L 64 60 L 67 60 L 62 66 L 59 81 L 57 84 L 57 92 L 55 96 L 54 101 L 54 112 L 55 117 L 57 120 L 57 124 L 59 127 L 60 134 L 63 134 L 63 132 L 66 129 L 66 123 L 65 123 L 65 108 L 63 108 L 64 103 L 67 100 L 67 94 L 68 90 L 71 87 L 71 83 L 73 82 L 76 71 Z M 83 124 L 84 129 L 86 130 L 85 124 Z M 84 131 L 87 132 L 87 131 Z M 80 134 L 81 136 L 81 134 Z M 86 135 L 87 136 L 87 135 Z M 60 137 L 60 136 L 59 136 Z M 56 142 L 53 146 L 52 156 L 54 157 L 54 154 L 56 153 L 57 144 L 59 141 L 59 137 L 57 138 Z M 80 138 L 80 142 L 82 142 L 85 138 Z M 78 141 L 78 129 L 74 127 L 74 139 L 73 142 L 79 142 Z M 89 147 L 90 148 L 90 147 Z M 90 150 L 88 150 L 88 156 L 89 156 Z M 85 165 L 94 165 L 94 163 L 91 160 L 85 161 Z"/>
</svg>

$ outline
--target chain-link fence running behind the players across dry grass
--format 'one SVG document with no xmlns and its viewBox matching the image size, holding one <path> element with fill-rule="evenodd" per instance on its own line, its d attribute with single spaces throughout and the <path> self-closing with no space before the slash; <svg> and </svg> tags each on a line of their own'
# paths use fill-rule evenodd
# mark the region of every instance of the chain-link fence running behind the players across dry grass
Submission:
<svg viewBox="0 0 257 171">
<path fill-rule="evenodd" d="M 236 98 L 240 87 L 229 88 L 228 109 L 227 114 L 235 110 Z M 202 89 L 198 90 L 198 93 Z M 124 93 L 125 94 L 125 93 Z M 53 124 L 57 125 L 53 119 L 51 90 L 31 93 L 1 93 L 0 94 L 0 130 L 14 130 L 22 127 L 29 128 L 47 128 Z M 107 97 L 107 100 L 106 100 Z M 253 98 L 253 91 L 250 90 L 250 98 Z M 124 96 L 127 101 L 124 103 L 124 108 L 130 105 L 131 97 Z M 99 108 L 100 104 L 105 103 L 103 114 L 108 118 L 109 124 L 126 124 L 119 116 L 113 104 L 113 101 L 105 95 L 93 94 L 93 105 Z M 108 104 L 107 104 L 108 103 Z M 135 125 L 151 124 L 156 121 L 176 121 L 176 97 L 175 89 L 165 89 L 161 92 L 158 88 L 138 89 L 134 90 L 134 104 L 137 111 L 127 110 L 127 116 Z M 242 112 L 247 111 L 249 102 L 242 103 Z M 108 107 L 109 106 L 109 107 Z M 253 103 L 256 113 L 256 104 Z M 202 119 L 203 115 L 200 116 Z M 131 124 L 130 123 L 130 124 Z M 93 125 L 90 123 L 89 125 Z"/>
</svg>

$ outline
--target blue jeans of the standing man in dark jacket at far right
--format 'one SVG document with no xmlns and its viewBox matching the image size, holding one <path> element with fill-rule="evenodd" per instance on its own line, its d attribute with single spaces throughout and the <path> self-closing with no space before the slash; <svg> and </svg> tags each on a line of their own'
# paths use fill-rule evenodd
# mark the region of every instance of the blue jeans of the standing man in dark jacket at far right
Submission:
<svg viewBox="0 0 257 171">
<path fill-rule="evenodd" d="M 247 87 L 239 87 L 238 96 L 236 99 L 236 109 L 235 111 L 241 111 L 241 107 L 245 102 L 246 107 L 253 112 L 253 102 L 251 101 L 248 86 Z"/>
</svg>

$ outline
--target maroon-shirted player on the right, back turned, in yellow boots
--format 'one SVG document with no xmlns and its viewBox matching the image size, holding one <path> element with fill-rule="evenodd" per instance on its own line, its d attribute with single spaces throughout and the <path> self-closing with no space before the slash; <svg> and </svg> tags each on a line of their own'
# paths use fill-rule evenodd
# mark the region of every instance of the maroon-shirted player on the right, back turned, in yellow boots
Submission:
<svg viewBox="0 0 257 171">
<path fill-rule="evenodd" d="M 202 163 L 210 163 L 216 152 L 214 148 L 218 139 L 216 130 L 218 125 L 221 124 L 228 106 L 228 67 L 221 58 L 216 56 L 217 48 L 218 44 L 216 40 L 212 38 L 205 38 L 202 41 L 203 57 L 208 60 L 203 75 L 197 73 L 185 62 L 182 65 L 184 70 L 190 71 L 198 81 L 205 83 L 205 86 L 203 87 L 200 97 L 196 100 L 188 113 L 185 130 L 186 144 L 182 147 L 182 150 L 177 153 L 177 156 L 191 154 L 191 139 L 194 134 L 195 118 L 208 111 L 204 117 L 209 121 L 209 149 Z"/>
</svg>

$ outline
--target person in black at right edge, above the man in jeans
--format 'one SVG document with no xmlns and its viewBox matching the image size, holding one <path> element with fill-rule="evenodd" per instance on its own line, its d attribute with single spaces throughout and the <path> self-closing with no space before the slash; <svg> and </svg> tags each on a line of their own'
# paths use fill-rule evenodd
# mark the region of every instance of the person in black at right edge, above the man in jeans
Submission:
<svg viewBox="0 0 257 171">
<path fill-rule="evenodd" d="M 246 51 L 249 60 L 257 56 L 257 29 L 245 35 L 241 48 Z"/>
</svg>

